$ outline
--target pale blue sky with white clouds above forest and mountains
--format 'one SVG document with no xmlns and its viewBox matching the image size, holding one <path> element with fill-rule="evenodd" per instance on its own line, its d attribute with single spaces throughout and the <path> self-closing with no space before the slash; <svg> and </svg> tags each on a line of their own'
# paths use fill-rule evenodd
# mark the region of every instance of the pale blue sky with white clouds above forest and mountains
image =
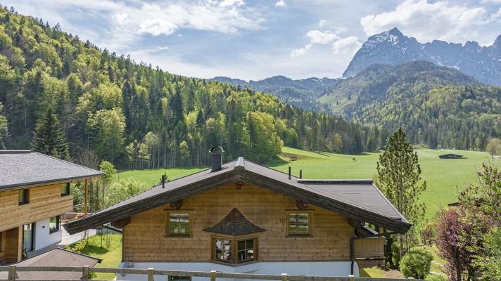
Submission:
<svg viewBox="0 0 501 281">
<path fill-rule="evenodd" d="M 191 77 L 340 77 L 372 34 L 393 27 L 488 46 L 501 0 L 4 0 L 100 48 Z"/>
</svg>

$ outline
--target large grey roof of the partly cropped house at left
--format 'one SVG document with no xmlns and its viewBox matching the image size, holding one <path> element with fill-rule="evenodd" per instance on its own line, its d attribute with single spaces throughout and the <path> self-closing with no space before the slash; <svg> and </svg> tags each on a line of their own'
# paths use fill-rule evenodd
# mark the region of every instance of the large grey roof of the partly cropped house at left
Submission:
<svg viewBox="0 0 501 281">
<path fill-rule="evenodd" d="M 30 150 L 0 150 L 0 190 L 103 176 L 103 172 Z"/>
</svg>

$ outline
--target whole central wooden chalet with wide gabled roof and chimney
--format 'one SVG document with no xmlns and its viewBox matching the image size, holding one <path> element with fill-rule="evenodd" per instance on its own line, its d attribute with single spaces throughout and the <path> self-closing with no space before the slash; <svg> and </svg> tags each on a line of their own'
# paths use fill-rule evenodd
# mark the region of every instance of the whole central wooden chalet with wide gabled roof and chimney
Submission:
<svg viewBox="0 0 501 281">
<path fill-rule="evenodd" d="M 411 226 L 371 180 L 307 180 L 242 157 L 223 165 L 220 150 L 211 169 L 160 184 L 65 229 L 122 227 L 122 268 L 357 275 L 358 258 L 383 256 L 384 238 L 364 223 L 393 233 Z"/>
</svg>

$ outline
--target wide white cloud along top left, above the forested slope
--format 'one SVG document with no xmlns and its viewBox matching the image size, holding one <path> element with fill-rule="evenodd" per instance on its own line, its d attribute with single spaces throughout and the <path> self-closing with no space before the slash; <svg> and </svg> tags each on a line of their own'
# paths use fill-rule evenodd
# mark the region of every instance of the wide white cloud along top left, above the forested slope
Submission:
<svg viewBox="0 0 501 281">
<path fill-rule="evenodd" d="M 116 51 L 122 51 L 125 46 L 140 41 L 144 34 L 168 36 L 178 30 L 236 34 L 242 30 L 258 30 L 265 22 L 265 18 L 255 8 L 246 6 L 243 0 L 200 0 L 194 3 L 39 0 L 37 4 L 44 7 L 44 15 L 61 15 L 68 11 L 83 11 L 89 16 L 109 14 L 103 21 L 102 30 L 95 31 L 91 27 L 77 30 L 79 35 L 99 34 L 98 38 L 91 38 L 93 43 L 103 44 Z M 18 0 L 16 6 L 21 5 L 29 8 L 30 1 Z M 38 14 L 34 8 L 29 10 L 32 14 Z M 52 24 L 54 21 L 61 22 L 66 28 L 70 26 L 68 20 L 61 16 L 51 17 L 50 21 Z"/>
</svg>

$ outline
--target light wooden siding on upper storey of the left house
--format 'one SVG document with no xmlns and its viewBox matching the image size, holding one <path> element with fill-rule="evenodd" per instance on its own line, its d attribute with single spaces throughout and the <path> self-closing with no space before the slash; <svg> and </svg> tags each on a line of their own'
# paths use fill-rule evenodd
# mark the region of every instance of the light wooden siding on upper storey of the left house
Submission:
<svg viewBox="0 0 501 281">
<path fill-rule="evenodd" d="M 43 218 L 64 214 L 73 209 L 73 196 L 61 197 L 61 184 L 30 188 L 30 202 L 19 205 L 19 189 L 0 191 L 0 231 Z"/>
</svg>

